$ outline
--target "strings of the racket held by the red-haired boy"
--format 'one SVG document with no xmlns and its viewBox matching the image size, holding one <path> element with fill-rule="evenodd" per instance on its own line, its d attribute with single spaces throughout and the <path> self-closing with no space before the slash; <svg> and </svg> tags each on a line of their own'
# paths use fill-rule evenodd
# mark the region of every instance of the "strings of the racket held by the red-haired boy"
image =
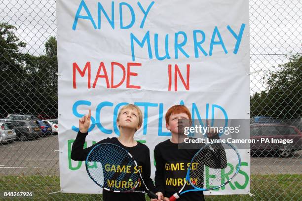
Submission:
<svg viewBox="0 0 302 201">
<path fill-rule="evenodd" d="M 195 163 L 190 167 L 192 184 L 202 189 L 220 186 L 237 173 L 235 167 L 238 161 L 237 152 L 228 144 L 209 145 L 208 148 L 200 150 L 192 160 L 192 163 Z M 206 182 L 205 174 L 208 175 Z M 196 180 L 197 182 L 194 182 Z"/>
</svg>

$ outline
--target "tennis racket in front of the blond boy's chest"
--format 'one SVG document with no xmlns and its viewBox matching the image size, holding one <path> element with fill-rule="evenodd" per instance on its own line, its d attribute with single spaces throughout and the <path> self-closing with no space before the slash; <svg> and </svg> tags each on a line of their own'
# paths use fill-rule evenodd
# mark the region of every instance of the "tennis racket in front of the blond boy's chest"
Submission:
<svg viewBox="0 0 302 201">
<path fill-rule="evenodd" d="M 96 145 L 89 152 L 85 165 L 92 181 L 106 191 L 138 192 L 157 198 L 146 186 L 141 170 L 132 155 L 118 145 L 111 143 Z M 143 190 L 136 191 L 135 189 L 141 185 Z"/>
</svg>

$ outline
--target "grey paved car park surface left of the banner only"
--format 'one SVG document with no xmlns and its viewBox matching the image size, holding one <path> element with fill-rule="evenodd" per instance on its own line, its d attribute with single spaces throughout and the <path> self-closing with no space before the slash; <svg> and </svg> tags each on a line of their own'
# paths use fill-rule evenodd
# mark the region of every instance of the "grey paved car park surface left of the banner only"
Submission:
<svg viewBox="0 0 302 201">
<path fill-rule="evenodd" d="M 58 135 L 0 145 L 0 175 L 59 175 Z"/>
</svg>

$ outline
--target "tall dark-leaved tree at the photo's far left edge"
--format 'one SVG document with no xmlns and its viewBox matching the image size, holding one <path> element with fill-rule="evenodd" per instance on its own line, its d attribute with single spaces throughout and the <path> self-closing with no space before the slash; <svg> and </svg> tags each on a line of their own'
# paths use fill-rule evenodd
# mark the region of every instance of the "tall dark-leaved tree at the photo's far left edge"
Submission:
<svg viewBox="0 0 302 201">
<path fill-rule="evenodd" d="M 27 74 L 24 67 L 24 54 L 19 48 L 26 46 L 15 35 L 16 28 L 0 23 L 0 115 L 20 112 L 26 96 Z"/>
</svg>

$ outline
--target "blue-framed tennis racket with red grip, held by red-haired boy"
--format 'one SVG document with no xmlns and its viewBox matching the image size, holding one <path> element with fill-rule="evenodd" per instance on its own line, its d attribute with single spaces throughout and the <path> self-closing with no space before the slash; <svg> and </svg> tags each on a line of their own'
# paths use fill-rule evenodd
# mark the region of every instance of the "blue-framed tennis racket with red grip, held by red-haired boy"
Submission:
<svg viewBox="0 0 302 201">
<path fill-rule="evenodd" d="M 225 186 L 238 173 L 240 163 L 240 155 L 232 144 L 212 143 L 205 145 L 192 158 L 184 186 L 179 192 L 171 196 L 169 201 L 175 201 L 190 191 L 210 191 Z M 211 174 L 207 185 L 204 185 L 205 168 Z M 184 190 L 187 184 L 190 185 L 190 188 Z"/>
</svg>

